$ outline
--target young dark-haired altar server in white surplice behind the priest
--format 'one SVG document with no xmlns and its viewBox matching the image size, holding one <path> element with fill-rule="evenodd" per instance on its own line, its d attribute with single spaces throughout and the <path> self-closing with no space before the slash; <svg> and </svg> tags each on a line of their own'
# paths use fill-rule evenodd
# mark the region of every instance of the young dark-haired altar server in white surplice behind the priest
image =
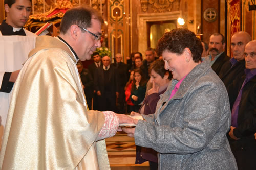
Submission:
<svg viewBox="0 0 256 170">
<path fill-rule="evenodd" d="M 0 116 L 5 127 L 13 85 L 36 35 L 23 28 L 31 13 L 31 0 L 5 0 L 6 20 L 0 25 Z M 0 145 L 2 141 L 0 133 Z"/>
</svg>

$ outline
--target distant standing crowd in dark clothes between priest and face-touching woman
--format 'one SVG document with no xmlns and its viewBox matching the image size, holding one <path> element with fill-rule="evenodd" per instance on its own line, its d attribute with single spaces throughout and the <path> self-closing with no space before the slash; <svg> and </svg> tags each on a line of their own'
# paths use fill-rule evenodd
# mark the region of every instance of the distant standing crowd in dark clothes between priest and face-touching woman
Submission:
<svg viewBox="0 0 256 170">
<path fill-rule="evenodd" d="M 94 62 L 88 69 L 83 68 L 79 61 L 77 67 L 89 109 L 113 110 L 122 114 L 138 112 L 150 79 L 148 68 L 158 59 L 153 48 L 148 48 L 145 56 L 143 60 L 140 52 L 133 53 L 125 64 L 122 62 L 123 56 L 118 53 L 114 63 L 111 63 L 110 56 L 100 56 L 94 52 Z"/>
</svg>

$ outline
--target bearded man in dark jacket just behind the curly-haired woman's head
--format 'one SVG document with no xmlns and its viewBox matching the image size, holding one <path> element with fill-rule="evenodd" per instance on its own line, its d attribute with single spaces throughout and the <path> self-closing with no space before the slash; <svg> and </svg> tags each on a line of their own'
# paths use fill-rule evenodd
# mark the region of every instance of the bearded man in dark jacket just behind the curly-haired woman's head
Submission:
<svg viewBox="0 0 256 170">
<path fill-rule="evenodd" d="M 225 37 L 221 33 L 214 33 L 210 36 L 208 56 L 211 61 L 211 68 L 219 76 L 223 64 L 229 60 L 224 52 L 226 46 Z"/>
</svg>

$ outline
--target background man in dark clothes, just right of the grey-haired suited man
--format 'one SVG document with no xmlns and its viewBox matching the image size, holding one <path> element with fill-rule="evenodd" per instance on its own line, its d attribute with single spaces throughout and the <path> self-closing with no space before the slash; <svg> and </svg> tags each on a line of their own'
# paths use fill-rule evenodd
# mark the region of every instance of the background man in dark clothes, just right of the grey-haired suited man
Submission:
<svg viewBox="0 0 256 170">
<path fill-rule="evenodd" d="M 122 62 L 122 55 L 120 53 L 116 54 L 115 56 L 116 62 L 111 64 L 111 66 L 115 67 L 117 72 L 117 81 L 119 84 L 119 96 L 117 100 L 117 112 L 118 113 L 125 113 L 125 94 L 124 94 L 124 87 L 128 81 L 128 70 L 127 65 Z"/>
</svg>

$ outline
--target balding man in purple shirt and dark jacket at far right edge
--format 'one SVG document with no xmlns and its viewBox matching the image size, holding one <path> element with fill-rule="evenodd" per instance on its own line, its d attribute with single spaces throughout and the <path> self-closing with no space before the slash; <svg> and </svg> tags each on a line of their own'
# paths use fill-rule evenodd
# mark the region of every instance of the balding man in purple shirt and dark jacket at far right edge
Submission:
<svg viewBox="0 0 256 170">
<path fill-rule="evenodd" d="M 245 46 L 244 81 L 234 80 L 240 90 L 232 108 L 229 143 L 239 169 L 255 169 L 256 167 L 256 40 Z"/>
</svg>

